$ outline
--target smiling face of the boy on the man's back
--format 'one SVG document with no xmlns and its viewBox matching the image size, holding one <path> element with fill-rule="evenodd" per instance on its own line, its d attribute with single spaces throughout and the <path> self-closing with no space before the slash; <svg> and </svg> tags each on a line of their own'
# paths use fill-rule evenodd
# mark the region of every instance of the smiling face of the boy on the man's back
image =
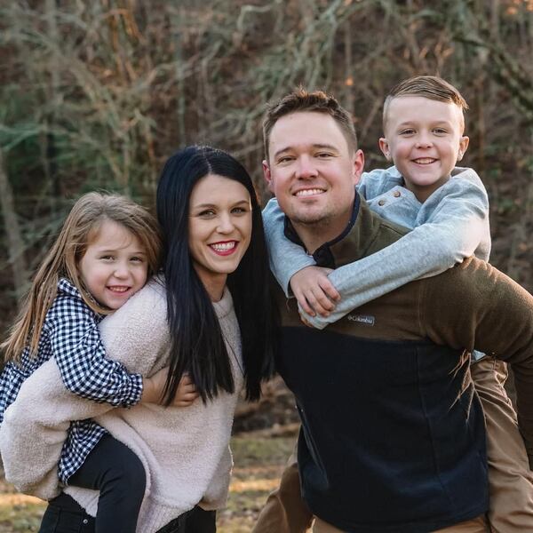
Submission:
<svg viewBox="0 0 533 533">
<path fill-rule="evenodd" d="M 389 104 L 379 147 L 402 173 L 405 186 L 424 202 L 449 179 L 465 154 L 468 137 L 463 129 L 463 114 L 456 104 L 400 96 Z"/>
</svg>

